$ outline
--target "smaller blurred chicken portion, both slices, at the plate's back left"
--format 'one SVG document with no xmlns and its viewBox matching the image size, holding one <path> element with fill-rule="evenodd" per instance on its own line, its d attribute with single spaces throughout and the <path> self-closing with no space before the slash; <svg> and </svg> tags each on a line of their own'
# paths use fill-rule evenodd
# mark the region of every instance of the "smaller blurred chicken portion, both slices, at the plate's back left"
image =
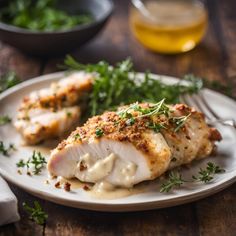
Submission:
<svg viewBox="0 0 236 236">
<path fill-rule="evenodd" d="M 83 102 L 92 88 L 91 74 L 68 75 L 24 97 L 14 123 L 27 144 L 62 137 L 78 125 Z"/>
</svg>

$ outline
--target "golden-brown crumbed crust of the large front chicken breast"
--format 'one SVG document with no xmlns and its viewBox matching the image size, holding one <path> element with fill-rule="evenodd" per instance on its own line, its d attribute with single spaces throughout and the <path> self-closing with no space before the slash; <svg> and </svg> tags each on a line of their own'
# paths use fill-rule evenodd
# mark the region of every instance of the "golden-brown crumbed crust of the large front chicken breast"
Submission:
<svg viewBox="0 0 236 236">
<path fill-rule="evenodd" d="M 148 103 L 139 104 L 142 108 L 151 106 Z M 124 109 L 125 107 L 122 107 Z M 175 125 L 170 121 L 170 117 L 164 115 L 161 116 L 147 116 L 135 119 L 132 125 L 127 124 L 127 119 L 121 119 L 117 112 L 105 112 L 100 116 L 94 116 L 90 118 L 82 127 L 78 127 L 67 140 L 61 142 L 57 149 L 61 150 L 67 145 L 74 143 L 89 142 L 91 139 L 100 139 L 104 137 L 119 142 L 128 142 L 135 146 L 137 150 L 140 150 L 146 157 L 150 166 L 150 169 L 160 170 L 160 165 L 166 165 L 170 158 L 170 151 L 164 150 L 158 154 L 154 147 L 152 147 L 152 140 L 149 139 L 149 132 L 153 132 L 148 123 L 165 123 L 165 129 L 161 129 L 160 133 L 163 135 L 167 144 L 171 148 L 172 157 L 183 153 L 181 164 L 189 163 L 194 158 L 202 158 L 208 156 L 214 147 L 214 141 L 219 140 L 219 132 L 215 129 L 209 128 L 204 120 L 204 115 L 195 109 L 188 107 L 184 104 L 176 104 L 170 106 L 172 110 L 170 116 L 181 117 L 189 114 L 189 119 L 185 124 L 175 132 Z M 132 112 L 133 117 L 137 117 L 137 112 Z M 194 147 L 196 139 L 192 141 L 192 129 L 195 128 L 196 132 L 199 132 L 202 139 L 201 143 L 198 143 L 199 149 Z M 102 135 L 97 135 L 97 131 L 101 131 Z M 181 146 L 181 149 L 180 149 Z M 196 151 L 196 150 L 197 151 Z M 190 157 L 188 157 L 190 155 Z M 185 160 L 183 160 L 185 158 Z M 180 158 L 181 159 L 181 158 Z M 177 166 L 178 163 L 176 163 Z M 154 171 L 155 172 L 155 171 Z M 153 178 L 159 175 L 154 173 Z"/>
</svg>

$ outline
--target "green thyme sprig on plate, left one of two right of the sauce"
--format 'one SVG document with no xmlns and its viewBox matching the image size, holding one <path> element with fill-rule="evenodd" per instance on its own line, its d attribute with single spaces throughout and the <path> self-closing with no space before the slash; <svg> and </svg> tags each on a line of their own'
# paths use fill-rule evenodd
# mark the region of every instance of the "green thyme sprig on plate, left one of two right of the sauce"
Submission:
<svg viewBox="0 0 236 236">
<path fill-rule="evenodd" d="M 161 185 L 160 192 L 169 192 L 172 190 L 174 187 L 180 187 L 181 185 L 186 182 L 185 180 L 182 179 L 182 176 L 178 172 L 171 171 L 169 173 L 169 179 Z"/>
</svg>

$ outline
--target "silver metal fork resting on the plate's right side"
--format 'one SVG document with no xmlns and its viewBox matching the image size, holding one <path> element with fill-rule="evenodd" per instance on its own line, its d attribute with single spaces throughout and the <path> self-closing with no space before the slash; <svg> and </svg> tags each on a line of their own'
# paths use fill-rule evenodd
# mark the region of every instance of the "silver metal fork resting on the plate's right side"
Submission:
<svg viewBox="0 0 236 236">
<path fill-rule="evenodd" d="M 181 101 L 188 106 L 195 107 L 197 110 L 205 114 L 206 121 L 209 125 L 219 123 L 236 129 L 236 121 L 234 119 L 224 119 L 220 117 L 207 103 L 201 91 L 194 95 L 182 95 Z"/>
</svg>

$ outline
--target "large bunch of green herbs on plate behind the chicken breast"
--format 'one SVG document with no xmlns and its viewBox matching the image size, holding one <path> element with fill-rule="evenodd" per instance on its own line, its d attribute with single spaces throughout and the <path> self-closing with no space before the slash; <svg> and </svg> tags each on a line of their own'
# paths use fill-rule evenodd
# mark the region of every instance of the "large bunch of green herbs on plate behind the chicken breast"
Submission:
<svg viewBox="0 0 236 236">
<path fill-rule="evenodd" d="M 71 56 L 67 56 L 64 63 L 64 69 L 83 70 L 96 75 L 89 97 L 88 117 L 136 101 L 155 104 L 165 98 L 166 103 L 177 103 L 181 94 L 196 93 L 202 88 L 199 78 L 186 78 L 184 81 L 188 83 L 179 82 L 174 85 L 155 80 L 149 73 L 145 74 L 144 79 L 140 79 L 130 59 L 114 67 L 104 61 L 97 64 L 80 64 Z"/>
</svg>

